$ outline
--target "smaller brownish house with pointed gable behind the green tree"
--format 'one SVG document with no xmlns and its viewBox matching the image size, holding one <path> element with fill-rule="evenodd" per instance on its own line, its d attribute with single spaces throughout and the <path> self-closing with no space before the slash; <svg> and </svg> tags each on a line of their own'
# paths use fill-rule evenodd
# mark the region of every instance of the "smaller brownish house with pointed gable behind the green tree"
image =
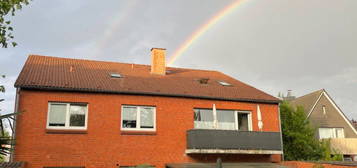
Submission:
<svg viewBox="0 0 357 168">
<path fill-rule="evenodd" d="M 356 129 L 326 90 L 298 97 L 291 104 L 304 108 L 310 123 L 317 129 L 317 138 L 329 138 L 336 153 L 343 154 L 345 160 L 357 161 Z"/>
</svg>

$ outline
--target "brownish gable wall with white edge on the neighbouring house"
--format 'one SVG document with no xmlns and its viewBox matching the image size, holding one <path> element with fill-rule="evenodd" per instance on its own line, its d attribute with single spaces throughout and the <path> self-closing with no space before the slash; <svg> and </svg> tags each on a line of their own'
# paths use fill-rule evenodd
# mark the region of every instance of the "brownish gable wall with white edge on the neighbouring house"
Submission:
<svg viewBox="0 0 357 168">
<path fill-rule="evenodd" d="M 357 138 L 356 130 L 325 90 L 322 90 L 307 118 L 315 127 L 342 127 L 346 138 Z"/>
</svg>

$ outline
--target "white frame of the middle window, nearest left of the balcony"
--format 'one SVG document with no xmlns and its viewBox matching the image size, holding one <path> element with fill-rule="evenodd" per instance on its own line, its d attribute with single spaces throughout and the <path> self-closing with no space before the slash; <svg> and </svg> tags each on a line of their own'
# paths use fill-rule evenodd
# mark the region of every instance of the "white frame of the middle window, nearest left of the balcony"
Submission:
<svg viewBox="0 0 357 168">
<path fill-rule="evenodd" d="M 123 127 L 123 112 L 124 112 L 124 107 L 135 107 L 136 108 L 136 128 L 124 128 Z M 153 124 L 154 128 L 140 128 L 141 122 L 140 122 L 140 108 L 143 107 L 150 107 L 153 108 Z M 136 105 L 122 105 L 121 106 L 121 112 L 120 112 L 120 129 L 123 131 L 156 131 L 156 107 L 155 106 L 136 106 Z"/>
</svg>

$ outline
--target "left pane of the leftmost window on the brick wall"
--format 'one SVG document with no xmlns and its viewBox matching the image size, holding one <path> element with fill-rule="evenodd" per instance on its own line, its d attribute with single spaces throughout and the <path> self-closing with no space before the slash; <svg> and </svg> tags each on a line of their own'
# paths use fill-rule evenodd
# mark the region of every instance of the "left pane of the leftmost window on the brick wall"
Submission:
<svg viewBox="0 0 357 168">
<path fill-rule="evenodd" d="M 49 126 L 64 127 L 66 123 L 66 104 L 50 104 Z"/>
</svg>

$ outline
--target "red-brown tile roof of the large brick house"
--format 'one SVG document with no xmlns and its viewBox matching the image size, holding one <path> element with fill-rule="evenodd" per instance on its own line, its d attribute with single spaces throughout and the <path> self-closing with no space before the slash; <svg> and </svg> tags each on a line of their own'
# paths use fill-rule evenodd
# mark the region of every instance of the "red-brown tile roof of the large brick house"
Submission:
<svg viewBox="0 0 357 168">
<path fill-rule="evenodd" d="M 178 96 L 278 103 L 279 99 L 221 72 L 167 68 L 153 75 L 149 65 L 30 55 L 15 87 L 85 92 Z M 111 78 L 111 73 L 122 78 Z M 200 80 L 207 78 L 207 84 Z M 222 86 L 218 81 L 230 83 Z"/>
</svg>

